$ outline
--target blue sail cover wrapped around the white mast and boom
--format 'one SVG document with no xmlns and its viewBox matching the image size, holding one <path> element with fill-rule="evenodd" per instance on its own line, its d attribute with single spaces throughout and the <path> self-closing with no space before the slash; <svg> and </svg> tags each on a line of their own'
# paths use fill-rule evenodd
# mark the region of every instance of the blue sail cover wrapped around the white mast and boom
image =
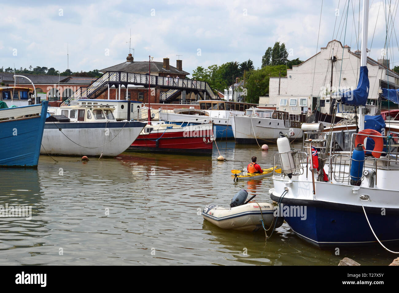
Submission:
<svg viewBox="0 0 399 293">
<path fill-rule="evenodd" d="M 369 96 L 369 88 L 369 70 L 367 66 L 361 66 L 358 88 L 340 93 L 342 103 L 348 106 L 364 106 Z"/>
</svg>

